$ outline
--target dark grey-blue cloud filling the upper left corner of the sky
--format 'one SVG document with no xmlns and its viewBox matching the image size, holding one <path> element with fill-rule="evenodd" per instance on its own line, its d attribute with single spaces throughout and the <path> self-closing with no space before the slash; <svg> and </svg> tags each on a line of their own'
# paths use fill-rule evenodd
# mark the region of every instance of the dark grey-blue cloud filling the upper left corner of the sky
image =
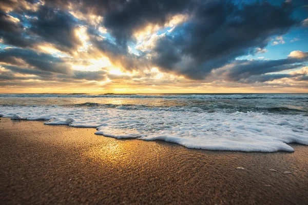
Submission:
<svg viewBox="0 0 308 205">
<path fill-rule="evenodd" d="M 21 3 L 24 3 L 22 1 Z M 27 1 L 34 5 L 36 1 Z M 15 2 L 8 1 L 20 22 L 13 22 L 9 14 L 0 10 L 0 37 L 6 45 L 26 48 L 35 44 L 48 42 L 64 52 L 72 52 L 81 42 L 75 35 L 74 29 L 79 22 L 68 12 L 49 6 L 38 5 L 37 10 L 31 11 L 16 7 Z M 23 5 L 23 4 L 21 4 Z M 28 19 L 24 17 L 27 15 Z M 27 25 L 27 26 L 25 26 Z"/>
</svg>

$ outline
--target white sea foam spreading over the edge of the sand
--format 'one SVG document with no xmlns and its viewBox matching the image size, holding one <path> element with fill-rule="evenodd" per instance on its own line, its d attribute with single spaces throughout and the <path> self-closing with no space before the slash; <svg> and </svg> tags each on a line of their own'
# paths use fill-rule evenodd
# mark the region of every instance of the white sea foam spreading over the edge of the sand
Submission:
<svg viewBox="0 0 308 205">
<path fill-rule="evenodd" d="M 308 145 L 308 119 L 303 115 L 6 106 L 0 107 L 0 116 L 92 127 L 106 137 L 164 140 L 194 149 L 293 152 L 287 144 Z"/>
</svg>

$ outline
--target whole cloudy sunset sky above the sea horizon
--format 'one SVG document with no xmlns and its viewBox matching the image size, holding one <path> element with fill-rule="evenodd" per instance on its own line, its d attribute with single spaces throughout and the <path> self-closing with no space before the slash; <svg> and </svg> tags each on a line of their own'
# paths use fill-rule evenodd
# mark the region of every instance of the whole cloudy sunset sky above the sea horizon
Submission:
<svg viewBox="0 0 308 205">
<path fill-rule="evenodd" d="M 2 0 L 0 93 L 308 93 L 308 2 Z"/>
</svg>

